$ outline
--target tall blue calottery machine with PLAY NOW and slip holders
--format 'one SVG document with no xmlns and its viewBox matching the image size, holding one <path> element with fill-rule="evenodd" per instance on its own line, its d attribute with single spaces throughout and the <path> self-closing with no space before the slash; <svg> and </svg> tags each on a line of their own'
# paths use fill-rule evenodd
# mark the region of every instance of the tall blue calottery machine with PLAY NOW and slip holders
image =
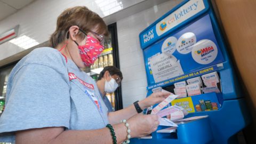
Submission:
<svg viewBox="0 0 256 144">
<path fill-rule="evenodd" d="M 236 133 L 251 120 L 210 1 L 183 1 L 139 38 L 147 95 L 156 87 L 179 95 L 169 105 L 188 115 L 174 129 L 158 126 L 151 137 L 131 142 L 237 143 Z"/>
</svg>

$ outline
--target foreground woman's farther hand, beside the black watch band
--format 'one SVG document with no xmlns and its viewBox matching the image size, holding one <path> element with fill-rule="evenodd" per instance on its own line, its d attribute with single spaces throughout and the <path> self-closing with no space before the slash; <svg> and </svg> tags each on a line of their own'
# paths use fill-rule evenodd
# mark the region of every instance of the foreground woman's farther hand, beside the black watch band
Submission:
<svg viewBox="0 0 256 144">
<path fill-rule="evenodd" d="M 149 95 L 146 99 L 143 99 L 139 101 L 139 106 L 141 109 L 145 109 L 147 107 L 153 106 L 156 103 L 162 102 L 164 99 L 166 99 L 171 93 L 167 92 L 155 92 Z"/>
</svg>

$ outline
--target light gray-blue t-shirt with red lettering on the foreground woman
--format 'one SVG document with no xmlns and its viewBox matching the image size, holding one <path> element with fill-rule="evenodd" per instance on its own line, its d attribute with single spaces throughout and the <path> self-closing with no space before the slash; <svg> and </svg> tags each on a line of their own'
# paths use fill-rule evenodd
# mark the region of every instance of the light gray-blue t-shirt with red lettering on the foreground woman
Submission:
<svg viewBox="0 0 256 144">
<path fill-rule="evenodd" d="M 11 71 L 0 142 L 14 142 L 15 131 L 42 127 L 101 129 L 108 124 L 107 111 L 90 76 L 58 50 L 41 47 Z"/>
</svg>

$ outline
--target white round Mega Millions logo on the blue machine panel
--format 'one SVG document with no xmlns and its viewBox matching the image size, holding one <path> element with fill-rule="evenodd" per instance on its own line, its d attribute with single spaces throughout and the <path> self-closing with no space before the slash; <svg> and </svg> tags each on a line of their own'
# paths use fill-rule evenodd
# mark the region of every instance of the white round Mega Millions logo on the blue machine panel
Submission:
<svg viewBox="0 0 256 144">
<path fill-rule="evenodd" d="M 207 65 L 215 60 L 218 49 L 214 42 L 203 39 L 195 44 L 192 49 L 193 59 L 202 65 Z"/>
</svg>

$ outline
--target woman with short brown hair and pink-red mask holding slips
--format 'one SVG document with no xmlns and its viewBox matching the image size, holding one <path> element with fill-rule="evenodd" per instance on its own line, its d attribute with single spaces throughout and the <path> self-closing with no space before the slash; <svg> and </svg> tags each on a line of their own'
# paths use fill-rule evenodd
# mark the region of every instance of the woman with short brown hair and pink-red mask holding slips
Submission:
<svg viewBox="0 0 256 144">
<path fill-rule="evenodd" d="M 97 85 L 80 70 L 98 58 L 107 35 L 102 18 L 85 6 L 63 11 L 50 38 L 54 49 L 32 51 L 10 74 L 0 142 L 129 143 L 155 131 L 158 116 L 138 113 L 169 93 L 108 113 Z"/>
</svg>

